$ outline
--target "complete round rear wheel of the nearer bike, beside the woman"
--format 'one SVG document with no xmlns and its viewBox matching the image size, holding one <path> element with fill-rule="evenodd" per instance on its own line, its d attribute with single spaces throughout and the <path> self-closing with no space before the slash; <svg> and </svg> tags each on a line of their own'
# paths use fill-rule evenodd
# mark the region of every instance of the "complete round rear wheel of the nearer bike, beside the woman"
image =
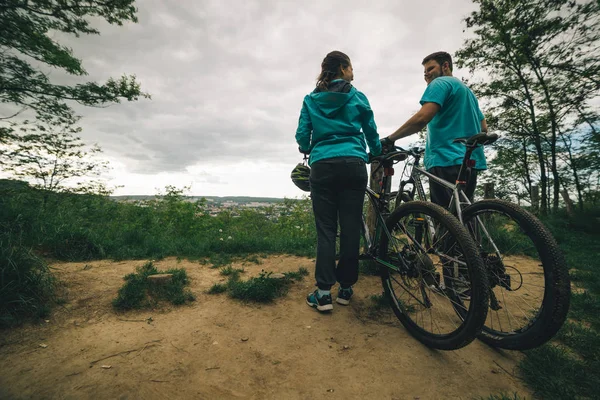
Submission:
<svg viewBox="0 0 600 400">
<path fill-rule="evenodd" d="M 378 254 L 390 305 L 425 345 L 454 350 L 481 331 L 488 283 L 473 239 L 448 211 L 432 203 L 400 205 L 386 221 Z"/>
</svg>

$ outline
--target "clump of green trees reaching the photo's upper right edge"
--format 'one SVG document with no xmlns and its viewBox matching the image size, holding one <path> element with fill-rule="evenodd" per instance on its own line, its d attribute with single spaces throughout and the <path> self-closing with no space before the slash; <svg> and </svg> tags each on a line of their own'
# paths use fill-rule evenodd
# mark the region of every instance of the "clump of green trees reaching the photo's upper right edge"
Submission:
<svg viewBox="0 0 600 400">
<path fill-rule="evenodd" d="M 600 3 L 595 0 L 474 0 L 471 35 L 456 53 L 482 79 L 473 88 L 502 140 L 484 180 L 501 196 L 558 211 L 568 188 L 579 206 L 598 201 Z"/>
</svg>

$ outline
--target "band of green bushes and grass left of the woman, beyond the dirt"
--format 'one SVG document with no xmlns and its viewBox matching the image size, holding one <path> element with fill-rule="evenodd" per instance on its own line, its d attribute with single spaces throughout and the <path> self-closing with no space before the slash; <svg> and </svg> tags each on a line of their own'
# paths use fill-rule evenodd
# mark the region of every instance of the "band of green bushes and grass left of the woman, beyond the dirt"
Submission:
<svg viewBox="0 0 600 400">
<path fill-rule="evenodd" d="M 124 203 L 0 180 L 0 222 L 21 232 L 25 245 L 70 261 L 209 257 L 216 268 L 236 255 L 315 253 L 309 200 L 212 217 L 203 201 L 188 202 L 178 189 L 167 189 L 152 201 Z"/>
</svg>

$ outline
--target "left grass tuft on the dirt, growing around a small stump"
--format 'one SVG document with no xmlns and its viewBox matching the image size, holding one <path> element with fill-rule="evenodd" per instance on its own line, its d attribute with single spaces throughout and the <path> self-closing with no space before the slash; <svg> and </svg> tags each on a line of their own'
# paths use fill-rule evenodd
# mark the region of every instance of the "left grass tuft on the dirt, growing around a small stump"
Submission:
<svg viewBox="0 0 600 400">
<path fill-rule="evenodd" d="M 148 281 L 149 276 L 164 273 L 173 275 L 170 282 L 158 285 Z M 128 274 L 123 279 L 125 284 L 119 289 L 117 298 L 113 300 L 113 307 L 117 310 L 153 307 L 160 301 L 179 305 L 195 300 L 194 295 L 185 288 L 189 280 L 183 268 L 159 271 L 150 261 L 136 268 L 135 273 Z"/>
</svg>

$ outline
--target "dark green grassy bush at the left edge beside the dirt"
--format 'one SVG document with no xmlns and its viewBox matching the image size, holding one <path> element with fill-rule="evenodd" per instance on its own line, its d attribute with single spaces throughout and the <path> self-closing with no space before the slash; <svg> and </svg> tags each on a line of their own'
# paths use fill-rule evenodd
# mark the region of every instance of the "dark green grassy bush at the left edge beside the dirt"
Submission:
<svg viewBox="0 0 600 400">
<path fill-rule="evenodd" d="M 0 228 L 0 327 L 46 316 L 54 299 L 54 277 L 44 261 L 5 226 Z"/>
</svg>

